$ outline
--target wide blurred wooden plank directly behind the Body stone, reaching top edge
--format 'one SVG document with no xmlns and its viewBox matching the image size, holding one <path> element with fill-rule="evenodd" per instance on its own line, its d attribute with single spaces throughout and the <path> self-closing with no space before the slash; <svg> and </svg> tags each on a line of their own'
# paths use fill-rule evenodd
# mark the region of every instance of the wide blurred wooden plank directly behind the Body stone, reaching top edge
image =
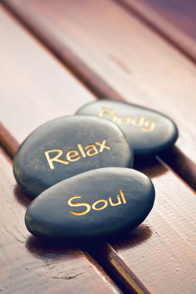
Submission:
<svg viewBox="0 0 196 294">
<path fill-rule="evenodd" d="M 98 96 L 125 98 L 170 116 L 179 127 L 179 149 L 177 161 L 172 152 L 164 161 L 196 189 L 196 68 L 189 59 L 109 0 L 3 3 Z"/>
</svg>

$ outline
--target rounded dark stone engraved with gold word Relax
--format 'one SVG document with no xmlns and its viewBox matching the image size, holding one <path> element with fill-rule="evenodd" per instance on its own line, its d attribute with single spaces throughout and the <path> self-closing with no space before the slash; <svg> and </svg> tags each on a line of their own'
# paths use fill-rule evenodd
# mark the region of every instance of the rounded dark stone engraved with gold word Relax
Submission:
<svg viewBox="0 0 196 294">
<path fill-rule="evenodd" d="M 57 162 L 50 161 L 58 155 Z M 118 126 L 96 116 L 45 123 L 21 144 L 13 164 L 16 181 L 33 197 L 66 178 L 107 166 L 133 167 L 133 151 Z"/>
</svg>

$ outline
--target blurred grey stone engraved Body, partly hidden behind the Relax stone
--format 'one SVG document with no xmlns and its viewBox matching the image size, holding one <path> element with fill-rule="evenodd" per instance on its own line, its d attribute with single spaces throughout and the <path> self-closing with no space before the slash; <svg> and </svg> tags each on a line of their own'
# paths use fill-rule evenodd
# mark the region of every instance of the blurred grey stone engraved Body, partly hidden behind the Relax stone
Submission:
<svg viewBox="0 0 196 294">
<path fill-rule="evenodd" d="M 175 123 L 167 116 L 123 101 L 102 99 L 83 106 L 76 114 L 96 115 L 117 124 L 132 142 L 136 156 L 163 151 L 178 137 Z"/>
</svg>

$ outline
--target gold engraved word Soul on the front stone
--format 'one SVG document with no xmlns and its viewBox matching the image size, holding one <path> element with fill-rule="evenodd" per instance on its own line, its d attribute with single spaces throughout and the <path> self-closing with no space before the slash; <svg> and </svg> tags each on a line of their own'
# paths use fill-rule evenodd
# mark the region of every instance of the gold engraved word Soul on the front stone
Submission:
<svg viewBox="0 0 196 294">
<path fill-rule="evenodd" d="M 117 195 L 117 199 L 118 201 L 117 202 L 113 202 L 112 201 L 112 197 L 109 197 L 109 203 L 111 206 L 116 206 L 116 205 L 120 205 L 122 204 L 122 201 L 121 201 L 121 198 L 120 196 L 122 197 L 122 200 L 123 200 L 123 203 L 126 204 L 126 199 L 125 199 L 125 196 L 124 196 L 124 193 L 123 191 L 120 189 L 120 195 L 118 194 Z M 68 204 L 69 206 L 86 206 L 86 209 L 84 211 L 81 211 L 81 212 L 75 212 L 75 211 L 70 211 L 70 213 L 76 215 L 76 216 L 82 216 L 86 213 L 88 213 L 90 210 L 91 210 L 91 205 L 88 203 L 88 202 L 76 202 L 76 203 L 73 203 L 71 202 L 73 199 L 76 199 L 76 198 L 81 198 L 81 196 L 73 196 L 71 198 L 69 198 L 68 200 Z M 103 206 L 101 207 L 96 207 L 96 205 L 99 203 L 99 202 L 104 202 Z M 104 209 L 108 206 L 108 201 L 105 200 L 105 199 L 99 199 L 97 201 L 95 201 L 93 204 L 92 204 L 92 208 L 94 210 L 101 210 L 101 209 Z"/>
</svg>

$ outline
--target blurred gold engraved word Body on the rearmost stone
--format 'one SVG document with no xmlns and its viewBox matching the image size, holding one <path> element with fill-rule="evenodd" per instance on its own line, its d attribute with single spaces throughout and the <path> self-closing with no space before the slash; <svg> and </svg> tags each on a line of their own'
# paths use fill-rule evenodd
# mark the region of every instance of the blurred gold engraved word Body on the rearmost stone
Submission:
<svg viewBox="0 0 196 294">
<path fill-rule="evenodd" d="M 143 132 L 151 132 L 155 128 L 155 121 L 149 121 L 148 119 L 145 119 L 145 116 L 141 116 L 140 118 L 133 118 L 131 119 L 129 116 L 117 116 L 115 114 L 114 109 L 102 107 L 99 114 L 99 117 L 111 117 L 110 121 L 122 123 L 122 124 L 128 124 L 131 123 L 133 126 L 141 127 L 141 130 Z"/>
</svg>

